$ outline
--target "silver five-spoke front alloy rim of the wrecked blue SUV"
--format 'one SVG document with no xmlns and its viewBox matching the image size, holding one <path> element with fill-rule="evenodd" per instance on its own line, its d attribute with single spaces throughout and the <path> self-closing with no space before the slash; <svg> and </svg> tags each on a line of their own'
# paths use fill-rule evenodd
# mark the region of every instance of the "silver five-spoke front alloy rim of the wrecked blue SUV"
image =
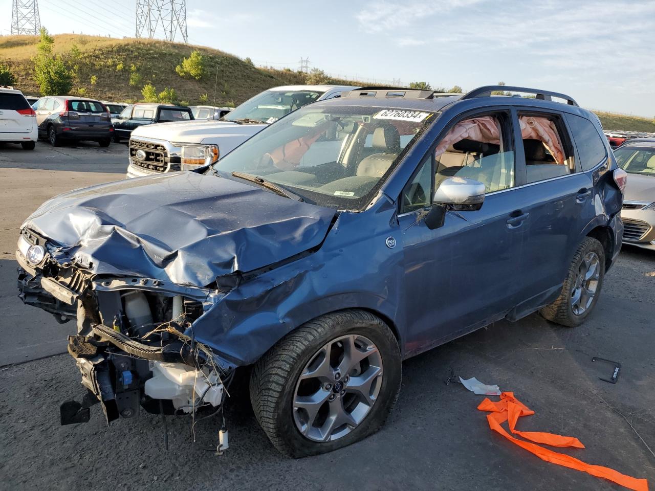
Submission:
<svg viewBox="0 0 655 491">
<path fill-rule="evenodd" d="M 340 336 L 316 352 L 293 395 L 293 420 L 312 441 L 344 437 L 369 414 L 382 386 L 382 357 L 371 340 Z"/>
</svg>

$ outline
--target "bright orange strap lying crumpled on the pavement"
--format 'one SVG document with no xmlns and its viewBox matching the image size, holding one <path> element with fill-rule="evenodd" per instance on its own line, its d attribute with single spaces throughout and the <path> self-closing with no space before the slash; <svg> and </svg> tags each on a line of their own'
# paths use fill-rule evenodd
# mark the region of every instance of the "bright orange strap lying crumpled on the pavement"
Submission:
<svg viewBox="0 0 655 491">
<path fill-rule="evenodd" d="M 500 401 L 497 402 L 490 401 L 489 398 L 486 398 L 480 403 L 477 409 L 491 412 L 491 414 L 487 414 L 487 422 L 489 422 L 489 427 L 491 429 L 500 433 L 500 435 L 504 436 L 512 443 L 515 443 L 515 445 L 525 448 L 525 450 L 533 453 L 541 460 L 586 472 L 595 477 L 603 477 L 609 481 L 616 482 L 616 484 L 621 484 L 628 489 L 635 491 L 648 491 L 648 481 L 646 481 L 646 479 L 635 479 L 634 477 L 626 476 L 614 469 L 610 469 L 609 467 L 587 464 L 586 462 L 582 462 L 582 460 L 578 460 L 566 454 L 553 452 L 553 450 L 548 450 L 548 448 L 512 437 L 512 435 L 505 431 L 504 427 L 501 426 L 502 423 L 508 421 L 508 426 L 512 433 L 536 443 L 545 443 L 546 445 L 559 447 L 572 446 L 574 448 L 584 448 L 584 445 L 580 443 L 580 440 L 574 437 L 565 437 L 553 433 L 542 433 L 541 431 L 518 431 L 515 429 L 516 422 L 521 416 L 531 416 L 534 414 L 534 411 L 528 409 L 523 405 L 523 403 L 515 399 L 513 392 L 503 392 L 500 395 Z"/>
</svg>

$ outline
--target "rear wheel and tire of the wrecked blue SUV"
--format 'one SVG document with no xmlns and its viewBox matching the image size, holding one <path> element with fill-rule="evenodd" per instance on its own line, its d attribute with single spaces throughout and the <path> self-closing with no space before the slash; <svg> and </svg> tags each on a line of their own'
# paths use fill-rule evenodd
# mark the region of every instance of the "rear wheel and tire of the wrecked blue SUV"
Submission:
<svg viewBox="0 0 655 491">
<path fill-rule="evenodd" d="M 598 301 L 605 276 L 605 250 L 595 238 L 586 237 L 573 256 L 559 297 L 539 313 L 549 321 L 576 327 L 584 322 Z"/>
</svg>

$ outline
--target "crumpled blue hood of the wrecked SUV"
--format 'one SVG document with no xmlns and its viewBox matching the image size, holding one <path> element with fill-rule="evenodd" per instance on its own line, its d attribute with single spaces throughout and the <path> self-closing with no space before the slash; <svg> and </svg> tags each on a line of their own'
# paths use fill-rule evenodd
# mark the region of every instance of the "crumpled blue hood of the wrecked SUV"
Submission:
<svg viewBox="0 0 655 491">
<path fill-rule="evenodd" d="M 205 286 L 320 244 L 335 214 L 212 174 L 175 172 L 56 196 L 23 227 L 98 274 Z"/>
</svg>

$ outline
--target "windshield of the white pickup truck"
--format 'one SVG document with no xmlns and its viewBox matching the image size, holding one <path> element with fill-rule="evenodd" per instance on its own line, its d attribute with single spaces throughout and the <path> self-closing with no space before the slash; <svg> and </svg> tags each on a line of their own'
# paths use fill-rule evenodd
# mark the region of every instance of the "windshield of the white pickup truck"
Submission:
<svg viewBox="0 0 655 491">
<path fill-rule="evenodd" d="M 238 106 L 225 119 L 272 123 L 291 111 L 318 100 L 322 94 L 323 92 L 316 90 L 267 90 Z"/>
</svg>

